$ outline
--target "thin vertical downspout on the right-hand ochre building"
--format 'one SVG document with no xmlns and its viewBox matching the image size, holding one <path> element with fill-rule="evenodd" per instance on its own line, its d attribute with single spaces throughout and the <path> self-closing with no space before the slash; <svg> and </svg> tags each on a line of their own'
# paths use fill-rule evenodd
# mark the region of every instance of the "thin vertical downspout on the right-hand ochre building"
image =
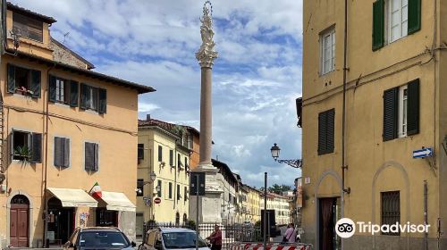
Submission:
<svg viewBox="0 0 447 250">
<path fill-rule="evenodd" d="M 345 133 L 346 133 L 346 54 L 348 51 L 348 0 L 344 0 L 344 36 L 343 36 L 343 110 L 342 110 L 342 190 L 343 194 L 350 194 L 350 187 L 344 187 L 345 170 L 348 169 L 345 161 Z"/>
</svg>

